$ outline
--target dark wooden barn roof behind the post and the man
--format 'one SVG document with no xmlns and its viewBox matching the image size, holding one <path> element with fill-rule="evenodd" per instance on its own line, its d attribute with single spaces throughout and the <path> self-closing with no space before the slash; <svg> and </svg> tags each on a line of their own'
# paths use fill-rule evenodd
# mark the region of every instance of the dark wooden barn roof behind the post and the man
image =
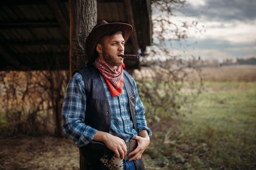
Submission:
<svg viewBox="0 0 256 170">
<path fill-rule="evenodd" d="M 97 0 L 97 11 L 98 21 L 134 27 L 126 53 L 151 44 L 150 0 Z M 69 22 L 68 0 L 1 1 L 0 70 L 69 70 Z"/>
</svg>

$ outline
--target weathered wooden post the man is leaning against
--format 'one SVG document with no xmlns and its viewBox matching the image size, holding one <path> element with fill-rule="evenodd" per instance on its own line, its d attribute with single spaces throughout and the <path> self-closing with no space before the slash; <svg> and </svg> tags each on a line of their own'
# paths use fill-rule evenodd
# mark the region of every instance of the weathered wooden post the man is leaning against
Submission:
<svg viewBox="0 0 256 170">
<path fill-rule="evenodd" d="M 70 9 L 70 76 L 86 65 L 85 39 L 97 24 L 97 0 L 69 0 Z M 80 154 L 80 170 L 86 169 Z"/>
</svg>

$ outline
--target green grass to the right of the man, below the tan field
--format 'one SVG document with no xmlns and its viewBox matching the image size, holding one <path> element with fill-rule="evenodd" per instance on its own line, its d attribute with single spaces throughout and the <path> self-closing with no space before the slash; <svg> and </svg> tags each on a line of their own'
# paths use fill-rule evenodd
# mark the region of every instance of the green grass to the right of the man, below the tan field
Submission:
<svg viewBox="0 0 256 170">
<path fill-rule="evenodd" d="M 204 82 L 204 87 L 191 114 L 153 128 L 144 157 L 148 169 L 256 169 L 256 83 Z"/>
</svg>

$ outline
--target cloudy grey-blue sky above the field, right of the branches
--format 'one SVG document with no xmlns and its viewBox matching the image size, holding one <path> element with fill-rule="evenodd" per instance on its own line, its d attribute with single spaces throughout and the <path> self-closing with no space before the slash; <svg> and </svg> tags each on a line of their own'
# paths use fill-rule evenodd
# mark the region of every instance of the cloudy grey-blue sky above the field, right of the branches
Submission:
<svg viewBox="0 0 256 170">
<path fill-rule="evenodd" d="M 180 51 L 202 59 L 256 57 L 256 0 L 187 0 L 173 20 L 197 21 L 201 33 L 189 31 Z M 175 43 L 174 43 L 175 44 Z M 175 45 L 174 45 L 175 46 Z M 179 48 L 176 46 L 176 48 Z"/>
</svg>

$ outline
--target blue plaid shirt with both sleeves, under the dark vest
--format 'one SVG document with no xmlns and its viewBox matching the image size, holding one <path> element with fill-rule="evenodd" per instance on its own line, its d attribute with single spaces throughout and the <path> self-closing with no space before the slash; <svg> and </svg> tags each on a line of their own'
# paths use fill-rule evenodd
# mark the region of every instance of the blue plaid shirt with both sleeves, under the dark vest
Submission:
<svg viewBox="0 0 256 170">
<path fill-rule="evenodd" d="M 147 130 L 148 135 L 151 137 L 152 133 L 147 127 L 146 119 L 144 116 L 145 108 L 139 98 L 137 86 L 135 87 L 135 116 L 137 123 L 137 131 L 133 129 L 132 119 L 130 116 L 130 109 L 128 104 L 128 95 L 125 86 L 123 92 L 119 96 L 113 97 L 110 94 L 108 85 L 101 76 L 101 81 L 105 89 L 106 96 L 109 101 L 112 117 L 110 122 L 110 134 L 124 139 L 125 142 L 129 141 L 137 135 L 137 132 Z M 63 100 L 63 134 L 72 139 L 77 146 L 85 146 L 94 138 L 97 129 L 87 126 L 85 120 L 86 110 L 86 96 L 84 91 L 83 78 L 80 73 L 76 73 L 67 85 L 66 93 Z"/>
</svg>

